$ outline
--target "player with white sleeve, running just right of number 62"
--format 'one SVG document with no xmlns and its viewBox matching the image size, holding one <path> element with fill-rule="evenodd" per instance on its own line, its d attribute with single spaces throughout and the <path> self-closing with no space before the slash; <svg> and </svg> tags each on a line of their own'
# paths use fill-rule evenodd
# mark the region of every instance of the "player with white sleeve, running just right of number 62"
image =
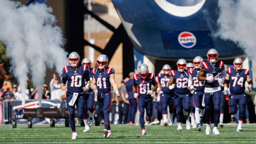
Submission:
<svg viewBox="0 0 256 144">
<path fill-rule="evenodd" d="M 201 105 L 204 96 L 204 81 L 198 81 L 198 73 L 200 71 L 200 64 L 203 62 L 203 58 L 196 56 L 193 59 L 193 65 L 195 68 L 190 69 L 188 79 L 188 89 L 193 94 L 193 104 L 195 106 L 195 119 L 197 124 L 197 130 L 201 131 L 203 125 L 204 107 Z"/>
</svg>

